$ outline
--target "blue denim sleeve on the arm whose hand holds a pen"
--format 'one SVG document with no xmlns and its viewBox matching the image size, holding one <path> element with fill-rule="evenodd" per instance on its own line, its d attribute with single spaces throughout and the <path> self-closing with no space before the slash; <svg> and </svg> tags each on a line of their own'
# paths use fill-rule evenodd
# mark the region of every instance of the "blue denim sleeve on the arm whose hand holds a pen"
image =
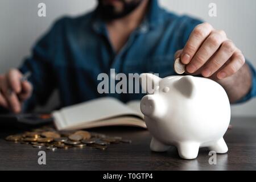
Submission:
<svg viewBox="0 0 256 182">
<path fill-rule="evenodd" d="M 51 65 L 56 53 L 56 47 L 61 43 L 61 22 L 61 20 L 58 20 L 47 34 L 39 39 L 32 48 L 32 55 L 25 59 L 19 67 L 20 72 L 23 74 L 31 72 L 28 81 L 33 86 L 32 96 L 24 102 L 23 111 L 32 110 L 36 105 L 46 104 L 56 86 Z"/>
</svg>

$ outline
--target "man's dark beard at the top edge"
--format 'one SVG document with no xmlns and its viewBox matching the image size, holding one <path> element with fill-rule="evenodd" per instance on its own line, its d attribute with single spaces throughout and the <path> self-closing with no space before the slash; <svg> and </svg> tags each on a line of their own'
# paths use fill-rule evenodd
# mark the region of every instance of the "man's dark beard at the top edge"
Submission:
<svg viewBox="0 0 256 182">
<path fill-rule="evenodd" d="M 104 0 L 98 0 L 98 14 L 100 14 L 102 19 L 105 20 L 114 20 L 123 18 L 124 16 L 130 14 L 134 11 L 143 0 L 131 0 L 127 2 L 126 0 L 116 0 L 119 3 L 122 3 L 122 9 L 118 10 L 117 7 L 112 5 L 111 3 L 104 3 Z"/>
</svg>

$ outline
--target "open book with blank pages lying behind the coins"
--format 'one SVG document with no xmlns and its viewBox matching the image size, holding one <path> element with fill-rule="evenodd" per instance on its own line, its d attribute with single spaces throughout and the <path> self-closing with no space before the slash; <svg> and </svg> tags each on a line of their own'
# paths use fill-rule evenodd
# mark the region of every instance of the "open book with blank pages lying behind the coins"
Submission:
<svg viewBox="0 0 256 182">
<path fill-rule="evenodd" d="M 127 104 L 113 97 L 98 98 L 53 111 L 57 130 L 88 129 L 100 126 L 137 126 L 146 129 L 140 101 Z"/>
</svg>

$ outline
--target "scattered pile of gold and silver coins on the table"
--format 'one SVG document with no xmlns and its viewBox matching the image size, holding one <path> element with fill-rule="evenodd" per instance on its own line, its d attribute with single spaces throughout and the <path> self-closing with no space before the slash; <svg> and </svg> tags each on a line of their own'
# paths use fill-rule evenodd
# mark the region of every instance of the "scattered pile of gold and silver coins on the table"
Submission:
<svg viewBox="0 0 256 182">
<path fill-rule="evenodd" d="M 10 135 L 7 141 L 31 144 L 35 148 L 46 148 L 55 151 L 57 148 L 69 149 L 72 147 L 85 148 L 93 147 L 106 150 L 110 144 L 131 143 L 131 140 L 121 137 L 109 137 L 100 133 L 88 131 L 56 131 L 52 127 L 42 127 L 22 134 Z"/>
</svg>

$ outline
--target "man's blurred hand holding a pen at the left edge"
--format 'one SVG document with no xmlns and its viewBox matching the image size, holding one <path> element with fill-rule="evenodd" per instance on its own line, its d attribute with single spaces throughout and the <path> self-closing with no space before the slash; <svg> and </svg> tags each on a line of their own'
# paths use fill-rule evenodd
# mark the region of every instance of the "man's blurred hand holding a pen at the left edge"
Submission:
<svg viewBox="0 0 256 182">
<path fill-rule="evenodd" d="M 22 73 L 18 69 L 11 69 L 5 75 L 0 75 L 0 106 L 19 113 L 22 101 L 27 100 L 32 93 L 32 85 L 22 81 Z"/>
</svg>

